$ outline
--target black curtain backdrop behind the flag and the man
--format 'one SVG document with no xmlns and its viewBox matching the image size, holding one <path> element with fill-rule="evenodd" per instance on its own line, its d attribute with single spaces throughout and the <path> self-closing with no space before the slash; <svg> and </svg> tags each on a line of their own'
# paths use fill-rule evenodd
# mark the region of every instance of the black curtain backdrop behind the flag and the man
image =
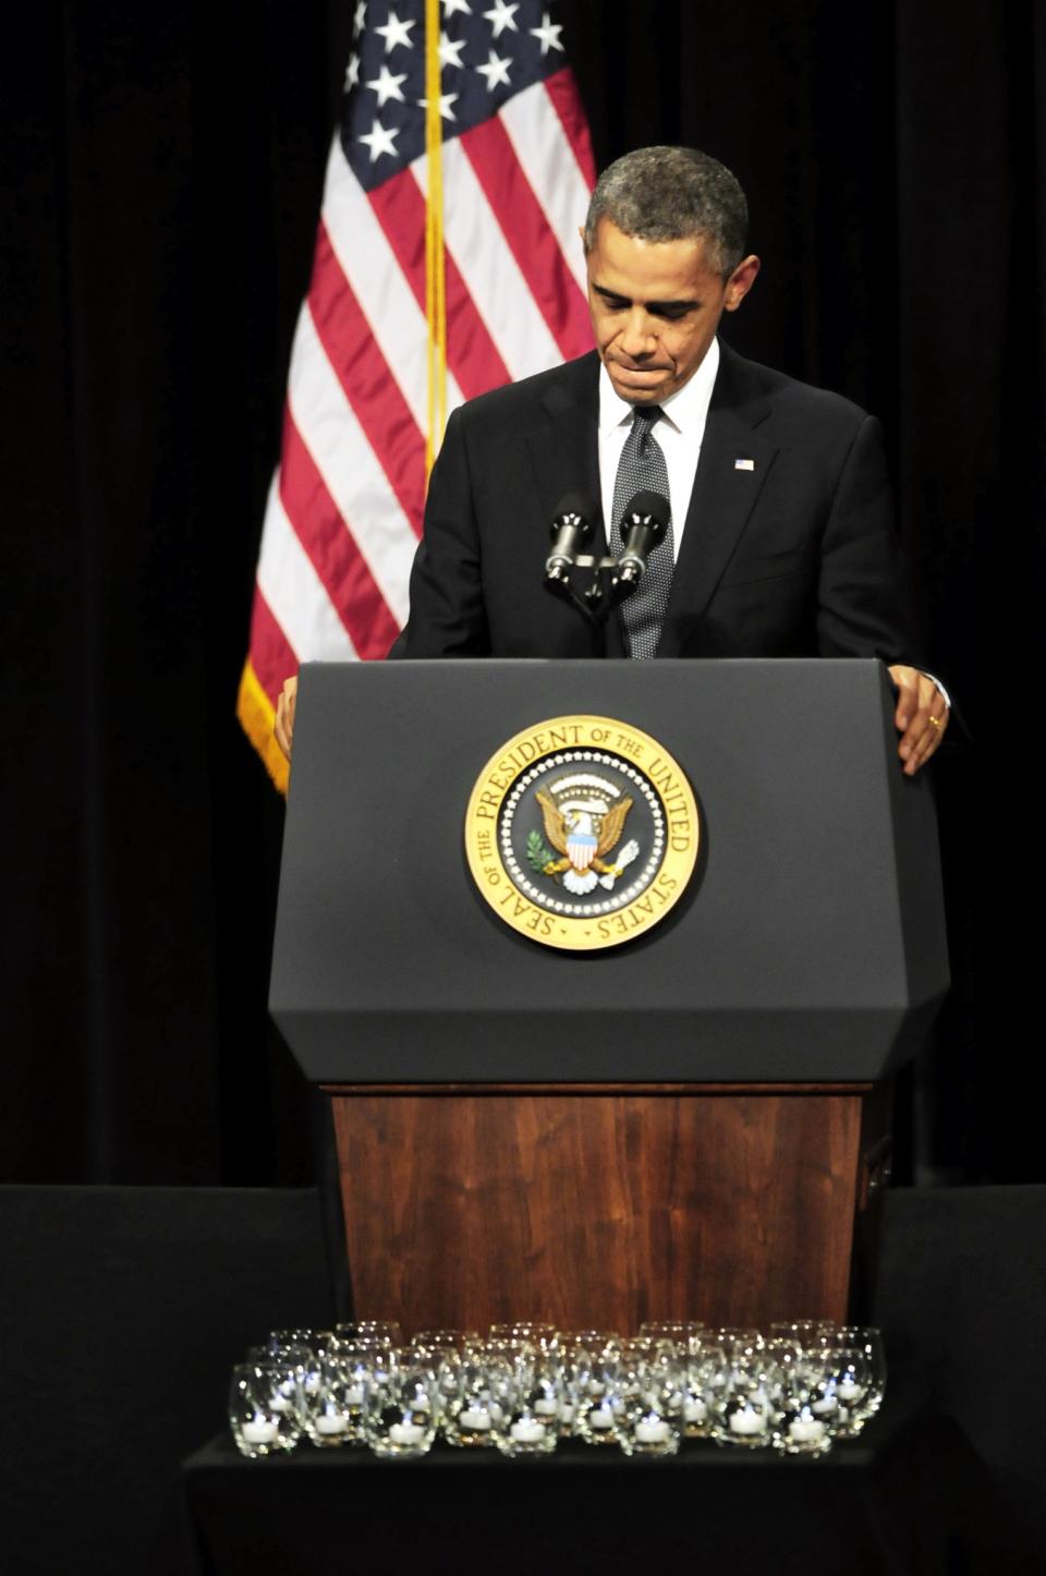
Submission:
<svg viewBox="0 0 1046 1576">
<path fill-rule="evenodd" d="M 0 1179 L 310 1176 L 310 1097 L 265 1009 L 282 805 L 233 703 L 351 11 L 68 0 L 6 28 Z M 600 164 L 682 140 L 745 184 L 764 273 L 731 342 L 885 422 L 933 660 L 977 738 L 936 772 L 956 987 L 904 1150 L 922 1177 L 1046 1180 L 1046 13 L 561 19 Z"/>
</svg>

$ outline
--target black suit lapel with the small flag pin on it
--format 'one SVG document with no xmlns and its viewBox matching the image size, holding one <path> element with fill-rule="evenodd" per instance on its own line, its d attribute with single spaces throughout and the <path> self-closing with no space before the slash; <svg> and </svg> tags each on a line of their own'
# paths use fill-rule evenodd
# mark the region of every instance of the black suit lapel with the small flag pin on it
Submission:
<svg viewBox="0 0 1046 1576">
<path fill-rule="evenodd" d="M 770 413 L 758 378 L 723 344 L 720 358 L 658 657 L 681 656 L 685 629 L 704 613 L 777 454 L 758 432 Z M 739 470 L 737 460 L 751 466 Z"/>
</svg>

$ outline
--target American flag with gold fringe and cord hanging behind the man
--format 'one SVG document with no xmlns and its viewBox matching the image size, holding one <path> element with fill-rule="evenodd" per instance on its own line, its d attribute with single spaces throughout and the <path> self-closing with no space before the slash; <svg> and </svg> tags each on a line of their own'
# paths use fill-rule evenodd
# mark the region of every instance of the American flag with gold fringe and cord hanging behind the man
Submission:
<svg viewBox="0 0 1046 1576">
<path fill-rule="evenodd" d="M 284 679 L 383 657 L 406 621 L 449 411 L 591 348 L 592 181 L 547 3 L 356 5 L 238 703 L 279 786 Z"/>
</svg>

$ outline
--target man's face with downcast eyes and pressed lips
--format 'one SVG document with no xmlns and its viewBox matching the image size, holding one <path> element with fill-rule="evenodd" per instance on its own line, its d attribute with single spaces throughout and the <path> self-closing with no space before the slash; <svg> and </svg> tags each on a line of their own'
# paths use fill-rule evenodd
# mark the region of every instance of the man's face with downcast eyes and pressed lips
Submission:
<svg viewBox="0 0 1046 1576">
<path fill-rule="evenodd" d="M 600 219 L 586 254 L 589 312 L 610 381 L 630 405 L 660 405 L 698 370 L 723 312 L 759 271 L 747 257 L 729 279 L 709 268 L 704 236 L 641 241 Z"/>
</svg>

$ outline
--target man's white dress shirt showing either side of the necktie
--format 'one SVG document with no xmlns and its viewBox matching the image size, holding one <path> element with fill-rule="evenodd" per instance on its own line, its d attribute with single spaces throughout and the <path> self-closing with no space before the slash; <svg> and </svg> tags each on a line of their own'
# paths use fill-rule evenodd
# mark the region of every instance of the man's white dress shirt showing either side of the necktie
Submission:
<svg viewBox="0 0 1046 1576">
<path fill-rule="evenodd" d="M 682 528 L 687 523 L 693 478 L 701 459 L 701 443 L 704 440 L 704 424 L 709 416 L 712 386 L 718 372 L 718 339 L 709 345 L 704 361 L 662 405 L 663 416 L 652 430 L 652 437 L 662 446 L 665 465 L 668 466 L 668 500 L 673 511 L 673 542 L 676 558 L 679 558 L 679 542 Z M 625 446 L 625 438 L 632 427 L 635 405 L 629 405 L 618 394 L 610 381 L 606 367 L 599 369 L 599 492 L 603 504 L 603 523 L 610 541 L 611 515 L 614 511 L 614 481 L 618 478 L 618 462 Z"/>
</svg>

